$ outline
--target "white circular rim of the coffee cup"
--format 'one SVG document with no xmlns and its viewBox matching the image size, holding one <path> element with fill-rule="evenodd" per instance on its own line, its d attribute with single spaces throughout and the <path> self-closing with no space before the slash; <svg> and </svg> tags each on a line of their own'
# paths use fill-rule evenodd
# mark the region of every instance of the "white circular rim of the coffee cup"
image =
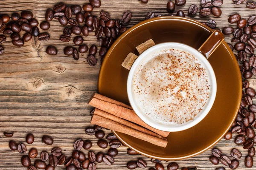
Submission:
<svg viewBox="0 0 256 170">
<path fill-rule="evenodd" d="M 147 57 L 147 55 L 149 53 L 151 53 L 157 49 L 160 49 L 160 48 L 171 47 L 171 46 L 175 46 L 176 48 L 177 48 L 177 46 L 183 46 L 183 47 L 189 49 L 189 52 L 191 52 L 192 54 L 194 54 L 194 55 L 196 54 L 195 57 L 197 57 L 201 62 L 204 63 L 204 65 L 206 66 L 207 72 L 208 72 L 209 79 L 211 79 L 211 94 L 209 95 L 209 99 L 207 100 L 207 105 L 203 109 L 204 111 L 202 111 L 192 121 L 187 122 L 185 124 L 181 124 L 179 126 L 172 126 L 169 124 L 163 125 L 163 124 L 154 122 L 152 119 L 148 118 L 148 116 L 146 116 L 144 113 L 142 113 L 140 111 L 140 109 L 138 108 L 138 106 L 135 102 L 135 99 L 134 99 L 133 89 L 132 89 L 132 82 L 133 82 L 134 74 L 136 73 L 136 70 L 137 70 L 138 66 L 140 65 L 140 62 L 143 59 L 145 59 L 145 57 Z M 149 126 L 154 127 L 158 130 L 169 131 L 169 132 L 177 132 L 177 131 L 181 131 L 181 130 L 186 130 L 186 129 L 189 129 L 190 127 L 197 125 L 199 122 L 201 122 L 201 120 L 203 120 L 204 117 L 207 116 L 210 109 L 212 108 L 212 105 L 215 101 L 216 92 L 217 92 L 217 82 L 216 82 L 215 73 L 214 73 L 213 68 L 210 65 L 209 61 L 207 60 L 207 58 L 204 57 L 204 55 L 201 54 L 195 48 L 193 48 L 189 45 L 180 43 L 180 42 L 163 42 L 163 43 L 154 45 L 154 46 L 148 48 L 147 50 L 143 51 L 143 53 L 137 57 L 137 59 L 134 61 L 133 65 L 131 66 L 131 69 L 128 74 L 128 79 L 127 79 L 128 100 L 129 100 L 129 103 L 130 103 L 131 107 L 133 108 L 134 112 L 137 114 L 137 116 L 139 116 L 140 119 L 142 119 L 143 122 L 145 122 Z"/>
</svg>

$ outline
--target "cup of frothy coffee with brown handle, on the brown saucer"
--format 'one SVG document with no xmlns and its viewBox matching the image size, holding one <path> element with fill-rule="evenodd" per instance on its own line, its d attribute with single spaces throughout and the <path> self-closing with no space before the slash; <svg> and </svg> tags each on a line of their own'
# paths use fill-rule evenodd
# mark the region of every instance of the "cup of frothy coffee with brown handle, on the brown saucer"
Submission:
<svg viewBox="0 0 256 170">
<path fill-rule="evenodd" d="M 140 119 L 151 127 L 169 132 L 186 130 L 204 119 L 212 108 L 217 91 L 215 74 L 207 59 L 223 40 L 224 35 L 215 30 L 198 50 L 178 42 L 164 42 L 140 54 L 131 66 L 127 80 L 128 99 Z M 156 57 L 167 60 L 156 60 Z M 169 68 L 171 62 L 172 68 Z M 189 71 L 190 65 L 192 71 Z M 183 68 L 187 69 L 184 71 Z M 150 74 L 154 69 L 157 73 Z M 181 74 L 180 70 L 184 73 Z M 140 79 L 145 82 L 141 83 Z M 193 82 L 189 82 L 191 79 Z M 198 93 L 195 85 L 200 86 Z"/>
</svg>

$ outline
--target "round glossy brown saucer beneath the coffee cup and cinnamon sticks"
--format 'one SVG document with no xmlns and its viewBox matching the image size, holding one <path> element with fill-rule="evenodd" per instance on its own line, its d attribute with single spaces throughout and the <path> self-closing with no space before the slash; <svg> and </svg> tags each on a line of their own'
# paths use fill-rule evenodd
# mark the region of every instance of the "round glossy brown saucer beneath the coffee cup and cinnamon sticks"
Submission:
<svg viewBox="0 0 256 170">
<path fill-rule="evenodd" d="M 160 42 L 182 42 L 198 49 L 212 29 L 183 17 L 157 17 L 133 26 L 120 36 L 109 49 L 99 73 L 99 94 L 129 104 L 126 81 L 128 70 L 121 64 L 136 46 L 153 39 Z M 217 79 L 217 95 L 211 111 L 194 127 L 171 132 L 166 148 L 142 141 L 123 133 L 115 135 L 138 153 L 162 160 L 177 160 L 195 156 L 217 143 L 236 119 L 241 102 L 241 74 L 233 52 L 226 42 L 209 57 Z"/>
</svg>

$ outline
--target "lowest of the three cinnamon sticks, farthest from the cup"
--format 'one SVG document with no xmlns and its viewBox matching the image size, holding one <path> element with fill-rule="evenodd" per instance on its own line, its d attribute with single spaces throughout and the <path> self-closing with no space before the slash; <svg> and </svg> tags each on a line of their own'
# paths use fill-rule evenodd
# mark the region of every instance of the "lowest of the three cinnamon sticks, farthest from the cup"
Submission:
<svg viewBox="0 0 256 170">
<path fill-rule="evenodd" d="M 128 134 L 130 136 L 134 136 L 134 137 L 139 138 L 143 141 L 150 142 L 150 143 L 155 144 L 155 145 L 160 146 L 160 147 L 166 147 L 166 145 L 168 143 L 164 139 L 160 139 L 160 138 L 157 138 L 155 136 L 148 135 L 146 133 L 140 132 L 140 131 L 135 130 L 131 127 L 127 127 L 125 125 L 122 125 L 122 124 L 117 123 L 113 120 L 107 119 L 105 117 L 102 117 L 102 116 L 99 116 L 99 115 L 96 115 L 96 114 L 93 114 L 93 117 L 92 117 L 90 123 L 93 124 L 93 125 L 99 125 L 99 126 L 111 129 L 111 130 L 115 130 L 117 132 L 125 133 L 125 134 Z"/>
</svg>

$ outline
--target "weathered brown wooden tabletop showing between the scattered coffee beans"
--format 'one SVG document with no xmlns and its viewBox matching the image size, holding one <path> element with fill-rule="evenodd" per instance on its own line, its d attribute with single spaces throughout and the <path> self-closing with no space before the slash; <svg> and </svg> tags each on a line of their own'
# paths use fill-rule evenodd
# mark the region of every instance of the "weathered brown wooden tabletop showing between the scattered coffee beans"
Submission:
<svg viewBox="0 0 256 170">
<path fill-rule="evenodd" d="M 9 14 L 13 12 L 20 13 L 23 10 L 31 10 L 35 18 L 41 22 L 44 20 L 47 8 L 52 8 L 59 0 L 1 0 L 0 14 Z M 80 4 L 86 1 L 62 0 L 67 4 Z M 143 21 L 145 14 L 154 11 L 156 14 L 169 15 L 166 12 L 167 0 L 149 0 L 147 4 L 140 3 L 138 0 L 102 0 L 102 6 L 95 8 L 93 14 L 99 16 L 99 11 L 105 10 L 110 12 L 111 18 L 121 18 L 124 11 L 132 12 L 131 23 L 128 28 L 136 23 Z M 176 7 L 177 10 L 184 10 L 187 16 L 187 9 L 195 3 L 199 8 L 199 0 L 187 0 L 185 6 Z M 213 15 L 209 17 L 199 16 L 199 12 L 194 17 L 195 20 L 205 22 L 213 19 L 217 22 L 218 28 L 230 26 L 227 18 L 230 14 L 239 12 L 242 18 L 248 18 L 255 14 L 255 10 L 245 8 L 245 4 L 235 5 L 232 0 L 224 0 L 220 7 L 222 10 L 221 17 Z M 89 112 L 91 107 L 87 101 L 94 92 L 97 91 L 97 79 L 100 64 L 91 67 L 87 64 L 86 54 L 80 54 L 80 59 L 75 61 L 72 57 L 63 54 L 63 49 L 67 45 L 73 45 L 73 42 L 61 42 L 59 36 L 64 29 L 57 20 L 50 22 L 51 27 L 49 34 L 50 40 L 46 42 L 38 41 L 33 38 L 26 42 L 23 47 L 17 48 L 12 45 L 11 39 L 7 36 L 7 42 L 3 44 L 5 52 L 0 56 L 0 169 L 1 170 L 24 170 L 20 163 L 21 154 L 17 151 L 11 151 L 8 147 L 9 140 L 25 142 L 27 133 L 35 135 L 35 142 L 27 144 L 27 149 L 32 147 L 38 149 L 40 154 L 42 150 L 48 150 L 54 146 L 63 149 L 66 155 L 71 155 L 73 151 L 73 142 L 78 139 L 90 139 L 93 142 L 92 150 L 96 153 L 100 149 L 97 146 L 97 139 L 94 136 L 88 136 L 84 129 L 90 126 Z M 236 28 L 235 24 L 232 24 Z M 230 42 L 232 36 L 227 36 L 226 41 Z M 73 36 L 72 36 L 73 38 Z M 96 41 L 94 32 L 84 38 L 85 43 L 90 46 L 99 43 Z M 47 45 L 55 45 L 58 48 L 58 55 L 49 56 L 45 50 Z M 99 49 L 99 48 L 98 48 Z M 99 55 L 96 58 L 99 61 Z M 232 76 L 232 75 L 230 75 Z M 255 88 L 255 77 L 249 81 L 251 87 Z M 3 136 L 3 131 L 14 131 L 12 138 Z M 110 133 L 105 130 L 105 133 Z M 54 138 L 52 146 L 46 146 L 41 142 L 41 137 L 50 135 Z M 236 135 L 235 135 L 236 136 Z M 244 157 L 247 150 L 236 146 L 233 142 L 221 139 L 215 147 L 218 147 L 226 155 L 230 156 L 230 150 L 233 147 L 238 148 L 243 156 L 239 160 L 238 169 L 247 169 L 244 166 Z M 204 141 L 202 141 L 204 142 Z M 129 160 L 136 160 L 138 157 L 147 161 L 148 167 L 154 166 L 149 158 L 145 156 L 128 156 L 127 147 L 119 147 L 119 154 L 115 157 L 115 163 L 107 166 L 105 163 L 97 163 L 97 169 L 119 169 L 125 170 L 126 163 Z M 107 152 L 107 149 L 104 150 Z M 87 154 L 87 150 L 84 150 Z M 211 150 L 192 157 L 190 159 L 180 160 L 177 163 L 180 167 L 196 166 L 199 170 L 215 170 L 222 165 L 212 165 L 209 162 Z M 39 156 L 37 157 L 39 159 Z M 33 160 L 34 161 L 34 160 Z M 33 162 L 32 161 L 32 162 Z M 162 161 L 166 167 L 168 163 Z M 58 166 L 55 170 L 64 169 Z M 256 167 L 253 168 L 256 170 Z"/>
</svg>

